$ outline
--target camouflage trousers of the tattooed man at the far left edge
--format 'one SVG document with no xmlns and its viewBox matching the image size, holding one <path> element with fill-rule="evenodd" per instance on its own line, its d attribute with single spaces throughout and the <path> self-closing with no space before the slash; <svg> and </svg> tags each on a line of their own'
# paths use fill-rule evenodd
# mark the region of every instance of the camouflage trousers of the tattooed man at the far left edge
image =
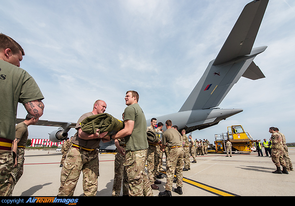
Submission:
<svg viewBox="0 0 295 206">
<path fill-rule="evenodd" d="M 0 150 L 0 196 L 12 196 L 14 178 L 11 151 Z"/>
</svg>

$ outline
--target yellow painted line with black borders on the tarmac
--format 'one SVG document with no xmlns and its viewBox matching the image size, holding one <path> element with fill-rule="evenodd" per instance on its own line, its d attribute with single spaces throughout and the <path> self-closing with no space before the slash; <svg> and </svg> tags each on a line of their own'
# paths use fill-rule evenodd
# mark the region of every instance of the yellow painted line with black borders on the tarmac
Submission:
<svg viewBox="0 0 295 206">
<path fill-rule="evenodd" d="M 161 173 L 166 175 L 165 171 L 161 172 Z M 176 176 L 174 176 L 174 177 L 176 177 Z M 231 193 L 231 192 L 228 192 L 228 191 L 225 191 L 225 190 L 222 190 L 222 189 L 218 189 L 216 187 L 212 187 L 212 186 L 209 186 L 209 185 L 204 184 L 202 182 L 191 180 L 191 179 L 188 179 L 188 178 L 185 178 L 185 177 L 182 178 L 182 181 L 185 182 L 185 183 L 188 183 L 188 184 L 190 184 L 192 186 L 198 187 L 198 188 L 200 188 L 202 190 L 205 190 L 207 192 L 210 192 L 210 193 L 212 193 L 214 195 L 218 195 L 218 196 L 239 196 L 239 195 L 236 195 L 234 193 Z"/>
</svg>

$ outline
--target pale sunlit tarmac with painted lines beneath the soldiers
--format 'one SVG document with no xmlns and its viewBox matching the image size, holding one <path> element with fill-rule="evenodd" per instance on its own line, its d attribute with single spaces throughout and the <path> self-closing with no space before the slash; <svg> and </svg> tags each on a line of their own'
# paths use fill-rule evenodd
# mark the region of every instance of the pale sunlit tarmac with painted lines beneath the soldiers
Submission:
<svg viewBox="0 0 295 206">
<path fill-rule="evenodd" d="M 265 153 L 264 153 L 265 155 Z M 295 165 L 295 148 L 289 148 L 289 156 Z M 295 196 L 295 171 L 289 174 L 273 174 L 276 170 L 270 157 L 258 153 L 198 155 L 197 163 L 190 163 L 190 170 L 183 172 L 182 195 L 172 196 Z M 61 152 L 55 150 L 26 150 L 24 174 L 15 185 L 12 196 L 57 196 L 60 186 Z M 114 179 L 113 153 L 99 154 L 97 196 L 112 196 Z M 190 157 L 190 161 L 193 158 Z M 165 166 L 165 155 L 163 158 Z M 153 195 L 165 190 L 166 175 Z M 83 196 L 82 173 L 74 196 Z M 122 195 L 122 192 L 121 192 Z"/>
</svg>

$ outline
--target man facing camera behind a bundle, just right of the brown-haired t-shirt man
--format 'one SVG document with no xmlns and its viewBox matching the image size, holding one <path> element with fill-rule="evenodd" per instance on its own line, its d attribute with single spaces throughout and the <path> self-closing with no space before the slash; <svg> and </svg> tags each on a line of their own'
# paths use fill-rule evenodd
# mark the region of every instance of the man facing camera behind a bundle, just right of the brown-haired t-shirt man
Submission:
<svg viewBox="0 0 295 206">
<path fill-rule="evenodd" d="M 150 126 L 147 131 L 155 131 L 157 124 L 156 118 L 151 118 Z M 148 142 L 148 158 L 147 158 L 147 169 L 148 169 L 148 179 L 150 182 L 151 189 L 159 189 L 156 184 L 161 184 L 161 181 L 156 180 L 157 168 L 159 165 L 159 157 L 157 154 L 156 146 L 158 144 Z"/>
</svg>

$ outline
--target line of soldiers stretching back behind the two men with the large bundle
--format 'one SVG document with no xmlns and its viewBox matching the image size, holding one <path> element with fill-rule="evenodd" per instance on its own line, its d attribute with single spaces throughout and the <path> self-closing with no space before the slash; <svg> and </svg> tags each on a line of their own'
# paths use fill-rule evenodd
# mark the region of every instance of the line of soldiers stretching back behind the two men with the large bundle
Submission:
<svg viewBox="0 0 295 206">
<path fill-rule="evenodd" d="M 167 123 L 168 122 L 168 123 Z M 182 194 L 182 172 L 188 171 L 190 169 L 190 160 L 189 160 L 189 153 L 193 155 L 194 161 L 193 163 L 196 163 L 196 148 L 195 148 L 195 142 L 192 139 L 192 136 L 189 136 L 190 142 L 188 141 L 188 137 L 185 135 L 185 130 L 182 130 L 182 135 L 178 132 L 178 127 L 173 126 L 172 123 L 170 123 L 170 120 L 167 120 L 165 123 L 165 126 L 167 130 L 163 131 L 163 123 L 159 122 L 157 124 L 157 119 L 152 118 L 150 120 L 150 126 L 147 127 L 147 131 L 156 131 L 159 133 L 163 133 L 162 141 L 159 141 L 158 143 L 152 143 L 148 142 L 148 154 L 147 154 L 147 172 L 148 172 L 148 179 L 151 186 L 151 189 L 157 190 L 159 187 L 157 184 L 161 184 L 160 180 L 157 179 L 163 179 L 163 175 L 160 173 L 160 171 L 164 171 L 162 168 L 162 158 L 163 154 L 166 155 L 166 171 L 167 171 L 167 183 L 165 186 L 165 191 L 160 192 L 159 196 L 172 196 L 171 190 L 172 190 L 172 183 L 177 183 L 177 188 L 175 188 L 175 192 L 178 194 Z M 170 125 L 171 124 L 171 125 Z M 156 127 L 157 125 L 157 127 Z M 169 130 L 168 130 L 169 129 Z M 167 142 L 166 133 L 168 133 L 167 138 L 173 139 L 172 141 Z M 174 135 L 174 136 L 173 136 Z M 118 149 L 118 153 L 115 157 L 115 177 L 114 177 L 114 184 L 113 184 L 113 191 L 112 196 L 119 196 L 121 191 L 121 185 L 122 185 L 122 191 L 123 196 L 128 195 L 128 178 L 126 176 L 123 162 L 124 157 L 120 154 L 120 150 L 124 147 L 124 142 L 115 142 L 116 147 Z M 172 144 L 172 145 L 169 145 Z M 204 144 L 202 144 L 204 147 Z M 166 146 L 166 147 L 165 147 Z M 199 143 L 198 143 L 199 147 Z M 178 149 L 177 149 L 178 148 Z M 201 148 L 201 145 L 200 145 Z M 176 149 L 176 150 L 175 150 Z M 171 153 L 173 151 L 173 153 Z M 203 153 L 205 153 L 205 150 L 203 149 Z M 172 164 L 171 162 L 175 162 L 175 164 Z M 172 166 L 174 165 L 174 167 Z M 171 173 L 171 174 L 170 174 Z M 177 177 L 174 178 L 174 175 Z"/>
</svg>

